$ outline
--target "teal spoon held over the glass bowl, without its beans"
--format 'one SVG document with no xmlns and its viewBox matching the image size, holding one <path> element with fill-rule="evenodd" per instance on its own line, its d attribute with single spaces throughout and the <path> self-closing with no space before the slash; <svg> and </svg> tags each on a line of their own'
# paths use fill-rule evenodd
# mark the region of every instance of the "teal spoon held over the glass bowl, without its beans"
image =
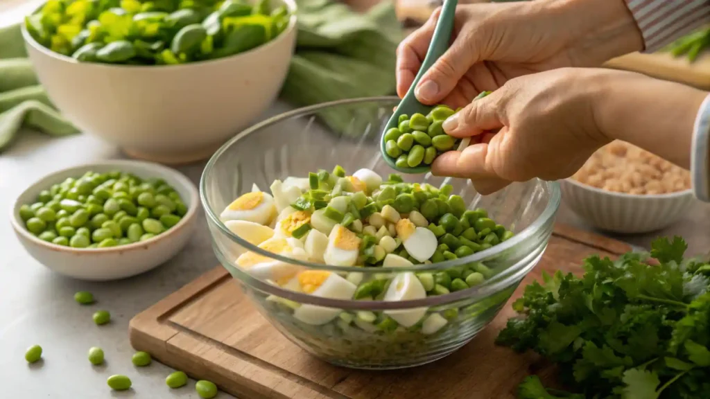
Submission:
<svg viewBox="0 0 710 399">
<path fill-rule="evenodd" d="M 417 112 L 420 114 L 428 114 L 432 109 L 432 106 L 428 106 L 417 101 L 417 97 L 414 95 L 414 88 L 417 87 L 417 83 L 422 78 L 427 70 L 429 70 L 432 65 L 444 55 L 444 52 L 449 48 L 449 42 L 451 41 L 451 33 L 454 30 L 454 15 L 456 14 L 456 6 L 458 0 L 444 0 L 444 5 L 442 6 L 442 12 L 439 15 L 439 21 L 437 21 L 437 26 L 434 30 L 434 35 L 432 36 L 432 41 L 429 43 L 429 50 L 427 50 L 427 55 L 422 62 L 422 67 L 419 69 L 419 73 L 414 78 L 412 86 L 409 91 L 402 99 L 400 104 L 397 106 L 394 114 L 387 122 L 387 126 L 382 131 L 382 136 L 380 137 L 380 152 L 388 165 L 393 169 L 398 170 L 401 173 L 427 173 L 431 167 L 430 165 L 417 166 L 415 168 L 399 168 L 395 165 L 395 159 L 390 155 L 387 155 L 385 151 L 385 133 L 398 126 L 399 116 L 402 114 L 413 115 Z"/>
</svg>

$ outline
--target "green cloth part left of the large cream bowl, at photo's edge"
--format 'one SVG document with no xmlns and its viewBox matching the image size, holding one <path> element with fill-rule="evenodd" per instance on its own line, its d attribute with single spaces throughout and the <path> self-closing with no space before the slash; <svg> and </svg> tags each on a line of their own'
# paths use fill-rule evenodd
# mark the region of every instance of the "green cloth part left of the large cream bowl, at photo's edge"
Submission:
<svg viewBox="0 0 710 399">
<path fill-rule="evenodd" d="M 0 153 L 23 127 L 50 136 L 79 133 L 54 109 L 26 57 L 19 24 L 0 28 Z"/>
</svg>

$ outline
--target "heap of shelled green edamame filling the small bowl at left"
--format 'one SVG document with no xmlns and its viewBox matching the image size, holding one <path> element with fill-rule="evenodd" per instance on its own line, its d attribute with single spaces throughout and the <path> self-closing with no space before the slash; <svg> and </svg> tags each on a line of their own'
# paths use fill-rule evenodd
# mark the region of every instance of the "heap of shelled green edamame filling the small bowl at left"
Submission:
<svg viewBox="0 0 710 399">
<path fill-rule="evenodd" d="M 185 214 L 187 206 L 165 181 L 117 171 L 69 177 L 40 192 L 35 203 L 20 207 L 28 231 L 73 248 L 145 241 L 178 224 Z M 77 295 L 80 303 L 93 300 L 90 293 Z"/>
</svg>

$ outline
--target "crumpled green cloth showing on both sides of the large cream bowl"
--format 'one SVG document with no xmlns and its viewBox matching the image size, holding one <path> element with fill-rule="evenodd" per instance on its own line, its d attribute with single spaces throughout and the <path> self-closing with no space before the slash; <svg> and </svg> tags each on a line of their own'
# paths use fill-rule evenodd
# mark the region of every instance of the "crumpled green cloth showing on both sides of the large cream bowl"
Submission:
<svg viewBox="0 0 710 399">
<path fill-rule="evenodd" d="M 395 50 L 403 30 L 391 1 L 356 13 L 331 0 L 297 0 L 296 51 L 282 97 L 296 106 L 375 97 L 395 91 Z M 78 130 L 53 108 L 26 58 L 20 26 L 0 28 L 0 153 L 26 126 L 50 136 Z M 353 107 L 320 114 L 334 131 L 361 134 L 377 109 Z M 365 115 L 363 113 L 366 113 Z"/>
</svg>

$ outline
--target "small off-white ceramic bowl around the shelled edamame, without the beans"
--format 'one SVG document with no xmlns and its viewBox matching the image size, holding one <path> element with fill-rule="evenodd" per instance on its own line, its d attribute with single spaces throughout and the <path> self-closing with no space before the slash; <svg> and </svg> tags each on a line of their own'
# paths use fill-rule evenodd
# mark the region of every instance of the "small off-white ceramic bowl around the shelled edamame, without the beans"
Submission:
<svg viewBox="0 0 710 399">
<path fill-rule="evenodd" d="M 20 218 L 22 204 L 35 202 L 41 190 L 47 190 L 67 177 L 79 177 L 88 170 L 104 173 L 111 170 L 133 173 L 138 177 L 157 177 L 168 182 L 187 205 L 187 214 L 180 222 L 152 239 L 109 248 L 70 248 L 38 239 L 25 228 Z M 81 280 L 116 280 L 137 275 L 173 258 L 187 244 L 197 220 L 197 189 L 181 173 L 155 163 L 133 160 L 107 160 L 75 166 L 51 173 L 34 182 L 15 200 L 10 222 L 17 238 L 38 262 L 57 273 Z"/>
</svg>

